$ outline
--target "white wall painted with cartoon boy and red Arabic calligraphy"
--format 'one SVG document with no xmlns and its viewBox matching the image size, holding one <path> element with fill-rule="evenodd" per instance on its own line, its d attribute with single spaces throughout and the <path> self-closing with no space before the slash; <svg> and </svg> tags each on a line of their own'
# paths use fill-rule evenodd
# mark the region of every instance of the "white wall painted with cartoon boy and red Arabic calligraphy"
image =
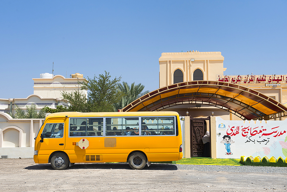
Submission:
<svg viewBox="0 0 287 192">
<path fill-rule="evenodd" d="M 287 120 L 236 121 L 216 117 L 216 157 L 287 157 Z"/>
</svg>

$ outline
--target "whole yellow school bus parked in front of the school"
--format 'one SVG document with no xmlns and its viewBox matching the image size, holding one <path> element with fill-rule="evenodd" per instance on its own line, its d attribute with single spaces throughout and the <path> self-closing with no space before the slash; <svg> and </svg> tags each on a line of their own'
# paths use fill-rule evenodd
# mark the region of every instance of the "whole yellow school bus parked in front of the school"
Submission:
<svg viewBox="0 0 287 192">
<path fill-rule="evenodd" d="M 74 163 L 181 160 L 177 112 L 61 112 L 48 115 L 35 137 L 35 163 L 62 170 Z"/>
</svg>

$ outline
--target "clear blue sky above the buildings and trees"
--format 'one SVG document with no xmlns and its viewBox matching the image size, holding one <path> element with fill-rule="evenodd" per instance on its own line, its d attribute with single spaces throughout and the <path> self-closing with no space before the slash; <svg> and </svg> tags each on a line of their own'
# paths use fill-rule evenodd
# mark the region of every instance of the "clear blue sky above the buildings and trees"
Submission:
<svg viewBox="0 0 287 192">
<path fill-rule="evenodd" d="M 158 89 L 162 52 L 221 51 L 224 74 L 286 74 L 287 1 L 0 1 L 0 98 L 40 73 Z"/>
</svg>

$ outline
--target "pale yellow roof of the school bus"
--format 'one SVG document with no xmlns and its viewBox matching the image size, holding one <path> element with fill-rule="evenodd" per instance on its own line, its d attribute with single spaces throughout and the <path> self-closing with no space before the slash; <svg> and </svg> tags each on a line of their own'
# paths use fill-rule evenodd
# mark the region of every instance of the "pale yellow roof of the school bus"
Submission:
<svg viewBox="0 0 287 192">
<path fill-rule="evenodd" d="M 59 112 L 49 114 L 46 118 L 53 117 L 120 117 L 120 116 L 178 116 L 174 111 L 153 111 L 153 112 Z"/>
</svg>

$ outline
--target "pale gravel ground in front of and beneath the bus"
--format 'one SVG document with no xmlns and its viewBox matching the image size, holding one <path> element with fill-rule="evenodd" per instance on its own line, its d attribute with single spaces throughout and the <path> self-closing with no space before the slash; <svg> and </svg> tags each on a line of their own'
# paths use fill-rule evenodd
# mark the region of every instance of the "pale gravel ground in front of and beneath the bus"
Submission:
<svg viewBox="0 0 287 192">
<path fill-rule="evenodd" d="M 281 167 L 152 164 L 132 170 L 127 163 L 78 163 L 66 170 L 33 159 L 0 159 L 0 191 L 210 191 L 287 192 Z"/>
</svg>

